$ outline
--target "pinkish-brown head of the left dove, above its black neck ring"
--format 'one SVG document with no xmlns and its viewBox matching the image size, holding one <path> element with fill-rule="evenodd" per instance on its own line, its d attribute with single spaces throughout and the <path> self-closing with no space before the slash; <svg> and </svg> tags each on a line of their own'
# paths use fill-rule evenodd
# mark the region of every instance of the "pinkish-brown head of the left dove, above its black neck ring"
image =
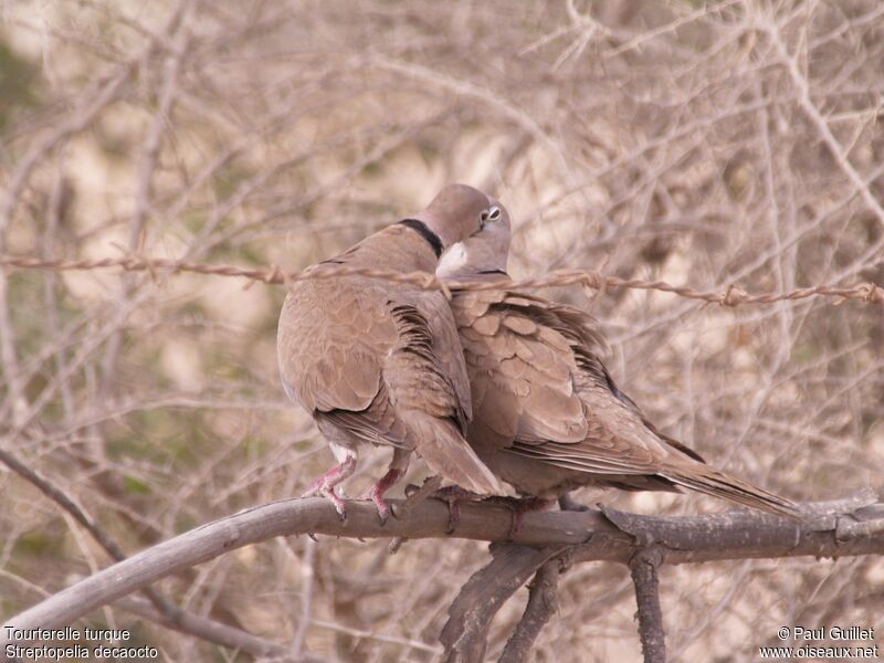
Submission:
<svg viewBox="0 0 884 663">
<path fill-rule="evenodd" d="M 425 210 L 414 215 L 433 231 L 442 249 L 469 238 L 482 228 L 492 208 L 492 200 L 478 189 L 466 185 L 449 185 Z"/>
</svg>

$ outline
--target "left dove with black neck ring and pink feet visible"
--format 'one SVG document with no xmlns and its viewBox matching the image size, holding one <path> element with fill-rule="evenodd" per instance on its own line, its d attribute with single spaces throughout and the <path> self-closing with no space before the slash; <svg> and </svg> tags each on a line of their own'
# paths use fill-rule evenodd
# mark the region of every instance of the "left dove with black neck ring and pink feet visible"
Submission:
<svg viewBox="0 0 884 663">
<path fill-rule="evenodd" d="M 422 212 L 369 235 L 308 272 L 337 269 L 425 272 L 485 223 L 490 199 L 449 185 Z M 385 492 L 417 452 L 434 473 L 480 494 L 502 486 L 464 439 L 472 417 L 470 382 L 445 296 L 411 283 L 338 274 L 292 284 L 276 334 L 287 396 L 306 409 L 338 465 L 304 493 L 330 501 L 356 469 L 364 443 L 393 449 L 387 473 L 368 494 L 382 522 Z"/>
</svg>

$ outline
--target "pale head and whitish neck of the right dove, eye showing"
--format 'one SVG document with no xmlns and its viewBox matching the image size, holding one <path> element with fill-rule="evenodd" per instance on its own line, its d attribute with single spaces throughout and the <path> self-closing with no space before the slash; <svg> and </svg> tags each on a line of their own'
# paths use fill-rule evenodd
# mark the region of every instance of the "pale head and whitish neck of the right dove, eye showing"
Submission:
<svg viewBox="0 0 884 663">
<path fill-rule="evenodd" d="M 436 269 L 436 276 L 475 277 L 481 274 L 506 273 L 509 255 L 509 214 L 499 202 L 490 199 L 491 207 L 480 221 L 478 232 L 454 244 Z"/>
</svg>

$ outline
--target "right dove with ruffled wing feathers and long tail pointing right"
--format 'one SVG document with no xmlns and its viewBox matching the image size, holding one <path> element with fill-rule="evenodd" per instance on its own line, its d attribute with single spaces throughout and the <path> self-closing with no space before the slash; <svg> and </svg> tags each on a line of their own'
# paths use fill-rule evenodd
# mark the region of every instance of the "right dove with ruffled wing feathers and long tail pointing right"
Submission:
<svg viewBox="0 0 884 663">
<path fill-rule="evenodd" d="M 509 217 L 492 202 L 483 228 L 452 246 L 436 276 L 451 290 L 470 375 L 466 438 L 497 477 L 541 502 L 587 485 L 691 488 L 798 518 L 792 502 L 711 467 L 659 431 L 614 385 L 588 314 L 505 287 L 464 287 L 509 281 Z"/>
</svg>

